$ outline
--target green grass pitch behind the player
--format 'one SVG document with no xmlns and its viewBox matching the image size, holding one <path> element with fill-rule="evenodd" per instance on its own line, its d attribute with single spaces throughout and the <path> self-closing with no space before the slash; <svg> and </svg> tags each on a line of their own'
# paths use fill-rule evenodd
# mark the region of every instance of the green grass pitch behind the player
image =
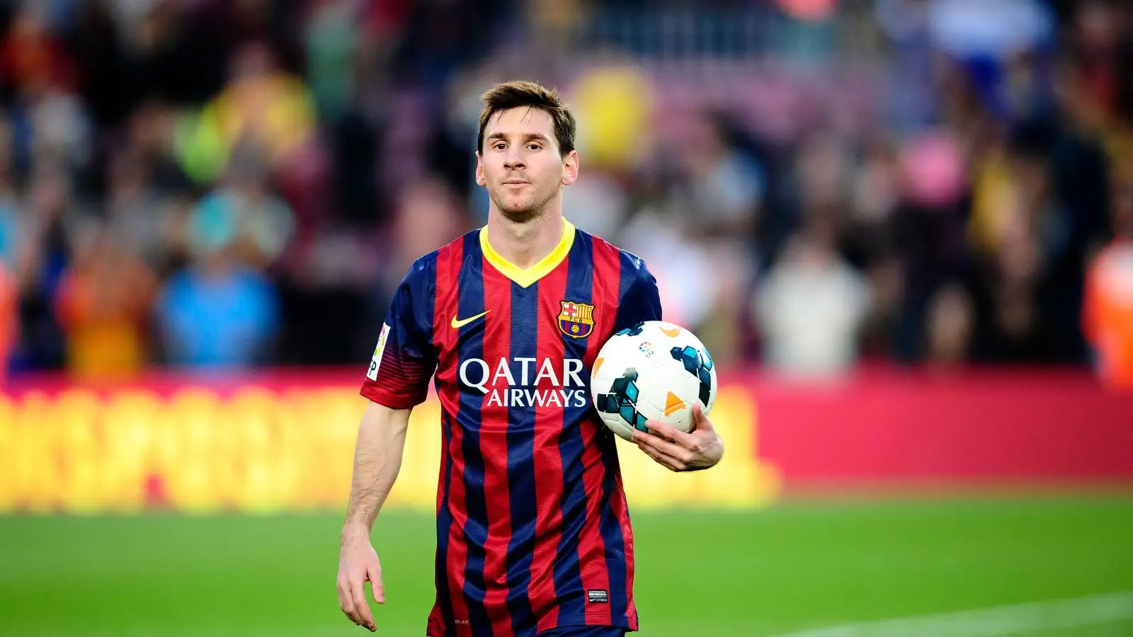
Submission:
<svg viewBox="0 0 1133 637">
<path fill-rule="evenodd" d="M 634 516 L 645 636 L 824 625 L 1133 591 L 1133 500 L 792 504 Z M 0 517 L 0 635 L 361 635 L 341 516 Z M 378 632 L 420 636 L 433 520 L 387 511 Z M 1124 620 L 1074 630 L 1133 635 Z M 944 637 L 944 636 L 940 636 Z"/>
</svg>

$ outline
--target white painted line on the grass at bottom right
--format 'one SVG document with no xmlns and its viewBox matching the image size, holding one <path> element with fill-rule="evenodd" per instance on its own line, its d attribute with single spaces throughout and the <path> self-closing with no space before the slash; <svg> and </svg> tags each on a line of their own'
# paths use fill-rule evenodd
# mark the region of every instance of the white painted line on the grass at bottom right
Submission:
<svg viewBox="0 0 1133 637">
<path fill-rule="evenodd" d="M 1133 592 L 844 623 L 774 637 L 1002 637 L 1126 619 L 1133 619 Z"/>
</svg>

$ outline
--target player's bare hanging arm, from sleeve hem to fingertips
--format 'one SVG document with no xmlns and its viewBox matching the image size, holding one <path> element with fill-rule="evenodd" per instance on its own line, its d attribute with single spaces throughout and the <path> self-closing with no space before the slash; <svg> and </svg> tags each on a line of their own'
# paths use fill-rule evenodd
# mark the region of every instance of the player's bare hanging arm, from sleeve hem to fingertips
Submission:
<svg viewBox="0 0 1133 637">
<path fill-rule="evenodd" d="M 374 519 L 382 509 L 401 468 L 410 409 L 391 409 L 370 402 L 358 426 L 350 504 L 342 527 L 339 553 L 339 605 L 355 623 L 376 630 L 366 603 L 369 580 L 374 601 L 385 603 L 382 567 L 369 542 Z"/>
</svg>

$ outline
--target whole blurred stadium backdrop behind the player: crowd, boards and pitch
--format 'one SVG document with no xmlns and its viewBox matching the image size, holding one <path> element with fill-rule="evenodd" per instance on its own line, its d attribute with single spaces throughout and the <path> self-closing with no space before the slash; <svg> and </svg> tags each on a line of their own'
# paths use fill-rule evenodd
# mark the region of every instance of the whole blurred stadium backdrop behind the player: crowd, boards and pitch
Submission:
<svg viewBox="0 0 1133 637">
<path fill-rule="evenodd" d="M 357 632 L 357 387 L 408 264 L 484 222 L 477 96 L 510 78 L 563 91 L 566 215 L 723 370 L 719 467 L 623 448 L 642 634 L 1133 635 L 1131 26 L 0 2 L 0 635 Z M 435 416 L 375 527 L 386 635 L 432 601 Z"/>
</svg>

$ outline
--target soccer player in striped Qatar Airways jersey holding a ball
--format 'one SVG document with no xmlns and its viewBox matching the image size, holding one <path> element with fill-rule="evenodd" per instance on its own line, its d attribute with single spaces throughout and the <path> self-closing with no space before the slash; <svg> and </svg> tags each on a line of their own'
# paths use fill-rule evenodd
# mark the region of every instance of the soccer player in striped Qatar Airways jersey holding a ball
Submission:
<svg viewBox="0 0 1133 637">
<path fill-rule="evenodd" d="M 363 381 L 339 558 L 342 611 L 376 630 L 385 602 L 369 532 L 393 486 L 414 406 L 435 372 L 442 458 L 432 637 L 621 637 L 638 629 L 633 534 L 614 434 L 589 370 L 615 331 L 659 320 L 638 257 L 576 229 L 576 124 L 559 95 L 509 82 L 483 95 L 476 181 L 485 228 L 419 258 L 394 294 Z M 638 447 L 672 470 L 714 466 L 723 442 L 697 406 L 689 433 L 649 423 Z"/>
</svg>

